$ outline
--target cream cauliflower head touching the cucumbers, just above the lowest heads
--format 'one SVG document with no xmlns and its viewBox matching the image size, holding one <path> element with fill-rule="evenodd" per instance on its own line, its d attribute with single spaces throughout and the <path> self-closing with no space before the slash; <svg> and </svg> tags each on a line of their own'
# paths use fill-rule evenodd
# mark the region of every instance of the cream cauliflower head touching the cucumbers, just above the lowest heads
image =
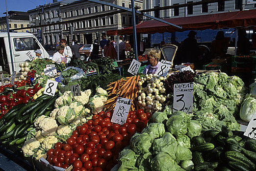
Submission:
<svg viewBox="0 0 256 171">
<path fill-rule="evenodd" d="M 48 135 L 53 135 L 57 128 L 58 125 L 56 123 L 56 120 L 53 118 L 44 118 L 40 123 L 39 123 L 39 128 L 42 129 L 41 134 L 43 136 L 48 136 Z"/>
</svg>

